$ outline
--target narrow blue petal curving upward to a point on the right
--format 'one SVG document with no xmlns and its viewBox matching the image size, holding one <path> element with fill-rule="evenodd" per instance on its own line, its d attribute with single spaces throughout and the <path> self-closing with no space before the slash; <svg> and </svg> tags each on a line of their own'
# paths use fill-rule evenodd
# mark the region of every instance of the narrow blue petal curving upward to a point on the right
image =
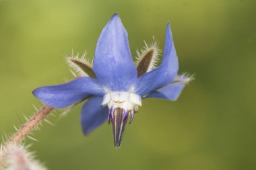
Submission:
<svg viewBox="0 0 256 170">
<path fill-rule="evenodd" d="M 139 77 L 135 83 L 136 93 L 143 96 L 168 85 L 177 76 L 178 69 L 178 58 L 172 42 L 170 23 L 168 23 L 162 64 L 153 71 Z"/>
</svg>

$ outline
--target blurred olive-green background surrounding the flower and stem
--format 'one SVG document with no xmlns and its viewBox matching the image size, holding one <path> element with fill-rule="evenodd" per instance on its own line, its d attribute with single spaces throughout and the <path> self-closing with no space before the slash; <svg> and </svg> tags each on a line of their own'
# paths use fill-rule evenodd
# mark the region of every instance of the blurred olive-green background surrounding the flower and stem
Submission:
<svg viewBox="0 0 256 170">
<path fill-rule="evenodd" d="M 32 116 L 32 90 L 71 79 L 65 56 L 88 52 L 118 12 L 133 56 L 164 48 L 171 23 L 180 71 L 195 81 L 178 101 L 145 99 L 121 149 L 106 123 L 88 137 L 81 105 L 34 132 L 31 150 L 49 169 L 256 169 L 256 1 L 0 0 L 0 136 Z"/>
</svg>

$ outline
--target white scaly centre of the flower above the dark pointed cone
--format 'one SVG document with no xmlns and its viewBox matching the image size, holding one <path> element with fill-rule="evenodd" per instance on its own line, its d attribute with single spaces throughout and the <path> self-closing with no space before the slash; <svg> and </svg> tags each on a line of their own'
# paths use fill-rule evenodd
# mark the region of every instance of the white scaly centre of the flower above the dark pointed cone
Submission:
<svg viewBox="0 0 256 170">
<path fill-rule="evenodd" d="M 104 95 L 101 105 L 108 105 L 109 109 L 121 108 L 123 110 L 137 112 L 139 107 L 141 107 L 141 97 L 140 95 L 127 91 L 111 91 Z"/>
</svg>

